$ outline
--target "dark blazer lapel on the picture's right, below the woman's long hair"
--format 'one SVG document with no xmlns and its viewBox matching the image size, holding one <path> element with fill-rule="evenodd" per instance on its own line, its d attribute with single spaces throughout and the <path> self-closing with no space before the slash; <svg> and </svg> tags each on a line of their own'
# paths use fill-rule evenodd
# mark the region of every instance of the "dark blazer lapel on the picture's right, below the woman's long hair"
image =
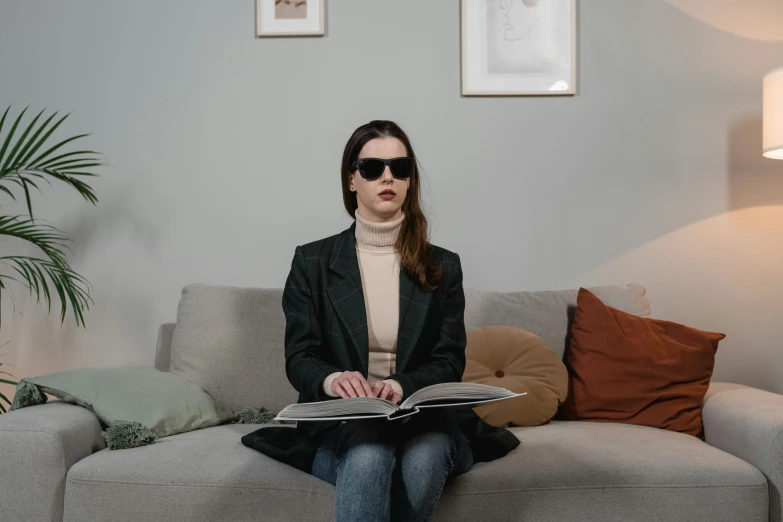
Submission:
<svg viewBox="0 0 783 522">
<path fill-rule="evenodd" d="M 396 371 L 405 371 L 432 302 L 432 292 L 423 289 L 400 267 L 400 328 L 397 335 Z"/>
</svg>

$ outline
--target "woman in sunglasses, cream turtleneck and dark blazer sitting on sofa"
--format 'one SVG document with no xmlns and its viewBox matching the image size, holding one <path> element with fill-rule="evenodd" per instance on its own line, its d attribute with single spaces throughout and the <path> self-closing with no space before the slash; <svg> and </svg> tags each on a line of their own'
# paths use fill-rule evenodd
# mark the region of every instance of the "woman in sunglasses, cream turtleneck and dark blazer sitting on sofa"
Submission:
<svg viewBox="0 0 783 522">
<path fill-rule="evenodd" d="M 283 295 L 286 374 L 299 402 L 381 397 L 457 382 L 465 368 L 459 256 L 427 241 L 419 170 L 390 121 L 362 125 L 343 152 L 350 228 L 296 248 Z M 293 435 L 293 436 L 292 436 Z M 443 485 L 519 444 L 472 410 L 405 422 L 308 421 L 242 442 L 337 486 L 336 520 L 427 520 Z"/>
</svg>

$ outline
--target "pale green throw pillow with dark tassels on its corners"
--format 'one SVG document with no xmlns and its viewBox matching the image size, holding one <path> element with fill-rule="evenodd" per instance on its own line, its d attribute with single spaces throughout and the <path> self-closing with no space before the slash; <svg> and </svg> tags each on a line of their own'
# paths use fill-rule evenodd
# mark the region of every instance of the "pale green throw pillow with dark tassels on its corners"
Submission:
<svg viewBox="0 0 783 522">
<path fill-rule="evenodd" d="M 234 413 L 201 386 L 146 366 L 79 368 L 25 377 L 17 385 L 11 409 L 42 404 L 44 393 L 94 412 L 106 429 L 109 449 L 142 446 L 158 437 L 230 421 L 268 422 L 274 417 L 263 408 Z"/>
</svg>

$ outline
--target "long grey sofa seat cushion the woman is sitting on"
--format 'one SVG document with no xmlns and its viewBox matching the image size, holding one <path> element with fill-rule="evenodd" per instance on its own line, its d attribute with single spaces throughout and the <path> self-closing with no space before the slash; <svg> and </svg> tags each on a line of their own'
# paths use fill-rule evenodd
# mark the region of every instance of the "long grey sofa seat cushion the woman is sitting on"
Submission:
<svg viewBox="0 0 783 522">
<path fill-rule="evenodd" d="M 229 424 L 73 466 L 65 520 L 333 520 L 334 487 L 240 444 Z M 293 429 L 293 428 L 292 428 Z M 766 521 L 751 465 L 681 433 L 553 422 L 446 484 L 434 521 Z"/>
</svg>

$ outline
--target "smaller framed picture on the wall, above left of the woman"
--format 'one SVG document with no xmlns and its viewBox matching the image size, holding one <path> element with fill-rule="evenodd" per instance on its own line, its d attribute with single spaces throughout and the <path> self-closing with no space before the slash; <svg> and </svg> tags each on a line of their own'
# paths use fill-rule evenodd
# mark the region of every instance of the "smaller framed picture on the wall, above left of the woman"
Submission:
<svg viewBox="0 0 783 522">
<path fill-rule="evenodd" d="M 256 0 L 258 36 L 323 36 L 326 0 Z"/>
</svg>

